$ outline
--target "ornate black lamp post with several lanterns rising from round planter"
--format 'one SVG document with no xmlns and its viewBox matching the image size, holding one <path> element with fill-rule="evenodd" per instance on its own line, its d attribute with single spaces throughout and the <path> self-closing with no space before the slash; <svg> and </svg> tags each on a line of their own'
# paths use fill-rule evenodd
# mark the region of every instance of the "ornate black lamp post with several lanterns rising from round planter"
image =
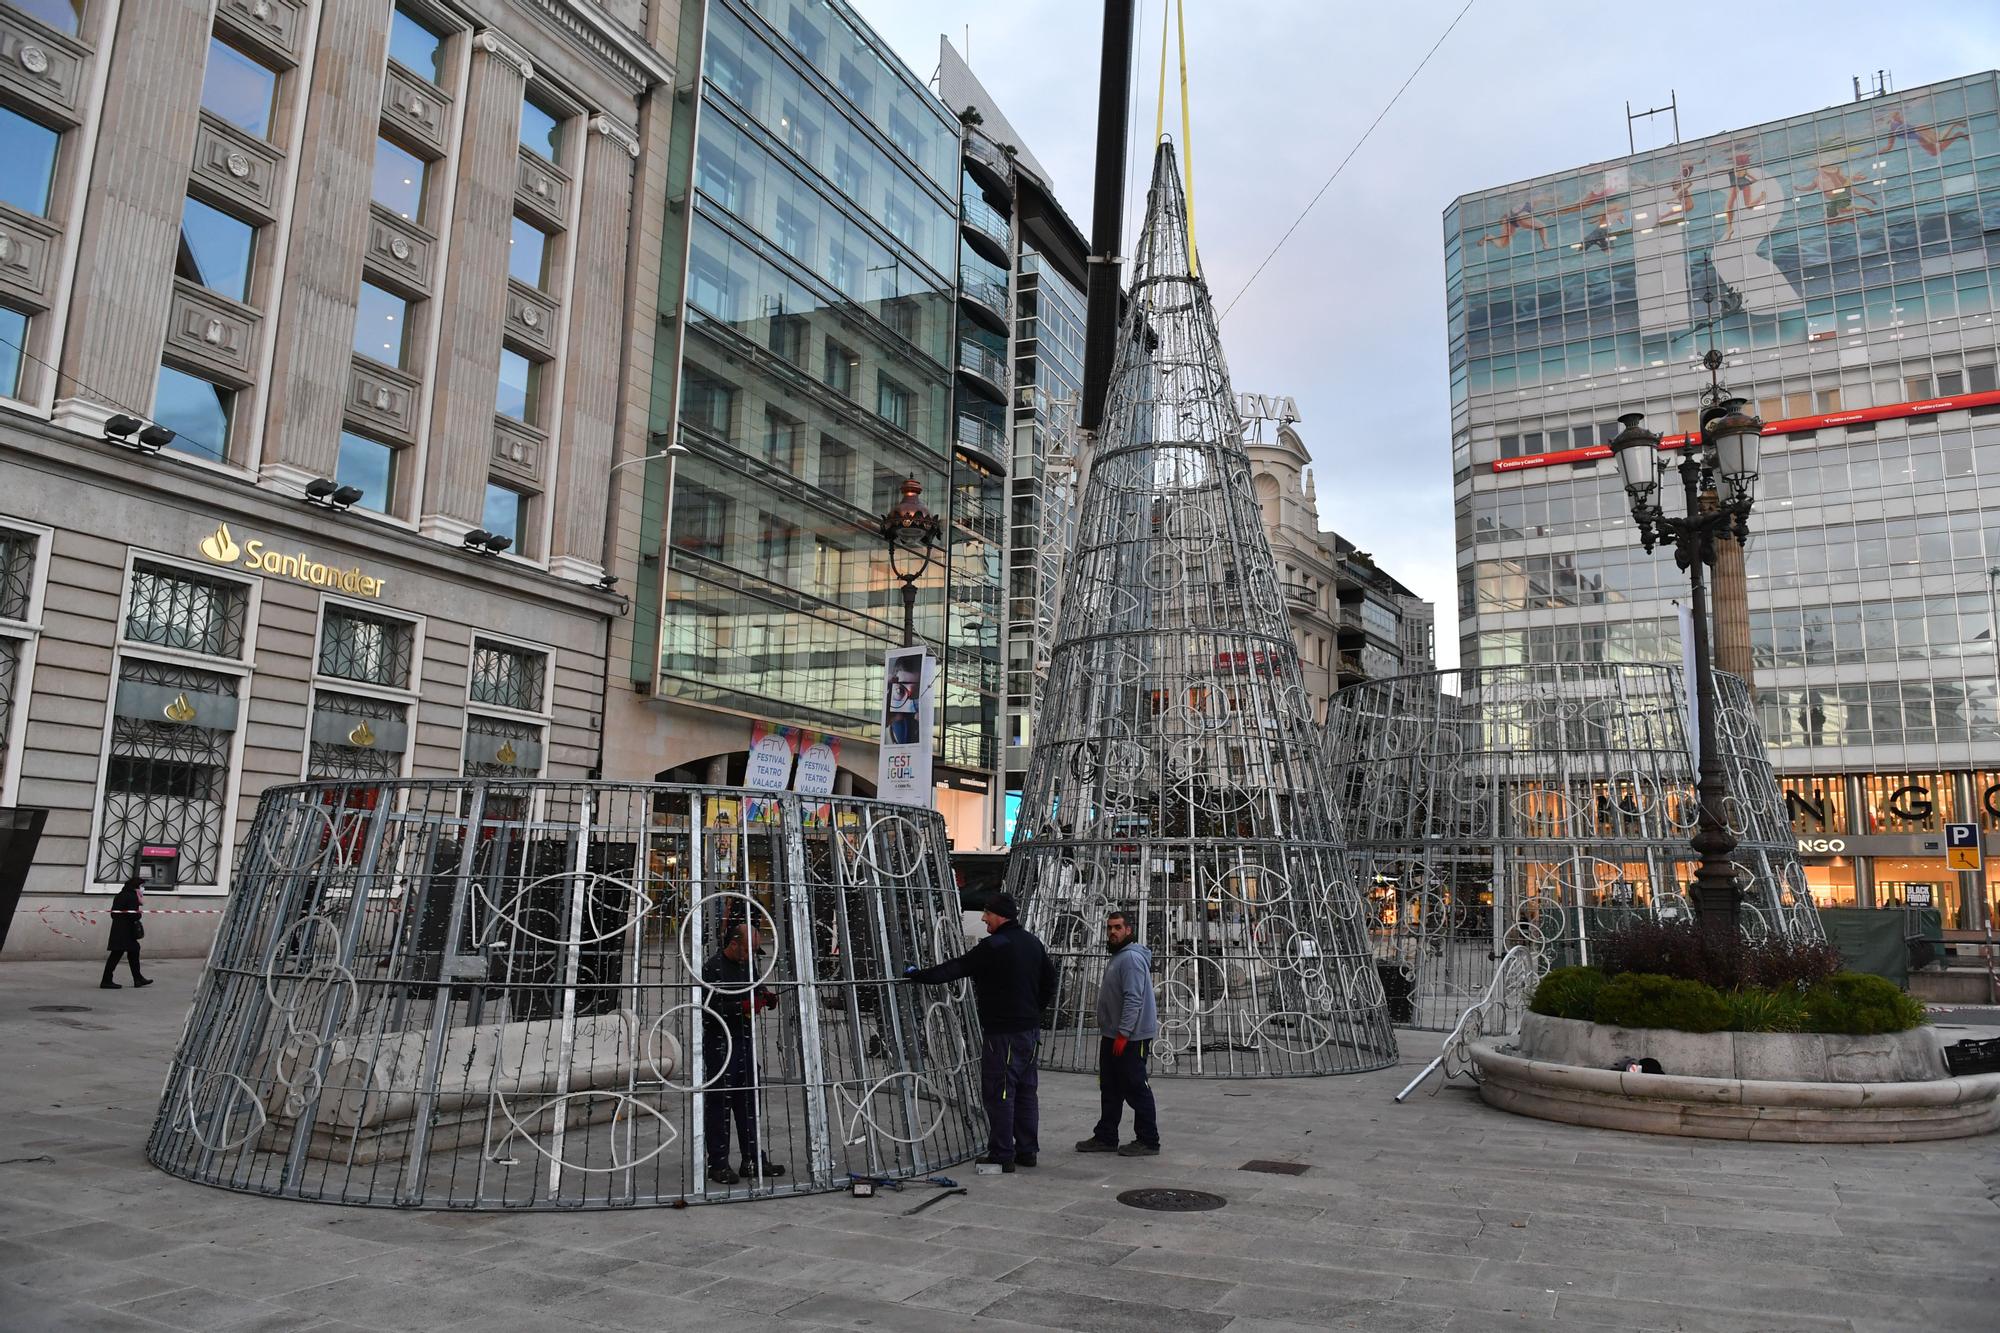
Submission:
<svg viewBox="0 0 2000 1333">
<path fill-rule="evenodd" d="M 1694 839 L 1690 839 L 1700 859 L 1700 869 L 1694 873 L 1694 913 L 1710 935 L 1736 939 L 1740 905 L 1736 867 L 1730 861 L 1736 837 L 1722 817 L 1728 785 L 1722 775 L 1722 749 L 1716 741 L 1706 570 L 1716 562 L 1720 536 L 1730 534 L 1738 542 L 1750 536 L 1750 506 L 1756 502 L 1764 422 L 1754 412 L 1744 410 L 1748 402 L 1732 398 L 1716 378 L 1722 368 L 1722 352 L 1710 348 L 1702 356 L 1702 364 L 1708 368 L 1708 388 L 1702 390 L 1700 434 L 1690 438 L 1680 454 L 1680 488 L 1686 512 L 1670 516 L 1660 506 L 1660 476 L 1668 464 L 1660 456 L 1660 436 L 1640 424 L 1646 418 L 1644 412 L 1626 412 L 1618 418 L 1624 430 L 1612 440 L 1612 454 L 1618 458 L 1626 494 L 1632 498 L 1632 522 L 1638 524 L 1640 544 L 1652 550 L 1660 542 L 1668 542 L 1674 550 L 1674 562 L 1688 570 L 1694 606 L 1696 729 L 1702 751 L 1694 785 L 1700 817 Z M 1702 492 L 1710 488 L 1716 490 L 1716 502 L 1704 506 Z"/>
</svg>

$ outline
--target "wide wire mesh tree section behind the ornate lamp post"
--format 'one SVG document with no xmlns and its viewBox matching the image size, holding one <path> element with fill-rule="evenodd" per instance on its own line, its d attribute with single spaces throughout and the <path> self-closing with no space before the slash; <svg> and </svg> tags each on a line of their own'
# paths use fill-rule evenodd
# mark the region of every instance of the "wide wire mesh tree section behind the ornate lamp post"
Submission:
<svg viewBox="0 0 2000 1333">
<path fill-rule="evenodd" d="M 1778 779 L 1736 677 L 1716 673 L 1722 819 L 1742 929 L 1818 939 Z M 1334 695 L 1334 791 L 1394 959 L 1390 1017 L 1448 1029 L 1526 945 L 1588 963 L 1634 919 L 1692 919 L 1698 803 L 1680 666 L 1562 662 L 1366 681 Z"/>
</svg>

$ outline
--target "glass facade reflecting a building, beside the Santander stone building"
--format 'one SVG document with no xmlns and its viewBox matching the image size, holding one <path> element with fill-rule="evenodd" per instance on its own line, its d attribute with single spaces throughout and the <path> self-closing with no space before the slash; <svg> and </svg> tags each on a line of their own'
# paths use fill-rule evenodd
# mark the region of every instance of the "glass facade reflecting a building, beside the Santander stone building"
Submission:
<svg viewBox="0 0 2000 1333">
<path fill-rule="evenodd" d="M 962 480 L 958 124 L 834 4 L 710 6 L 702 76 L 656 693 L 874 739 L 902 636 L 874 520 Z M 920 584 L 948 681 L 966 562 L 954 536 Z"/>
</svg>

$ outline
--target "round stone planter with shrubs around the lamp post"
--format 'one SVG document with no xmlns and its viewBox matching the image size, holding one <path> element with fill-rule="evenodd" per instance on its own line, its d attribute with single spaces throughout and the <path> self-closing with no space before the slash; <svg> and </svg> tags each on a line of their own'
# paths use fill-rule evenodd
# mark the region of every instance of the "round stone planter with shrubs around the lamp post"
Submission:
<svg viewBox="0 0 2000 1333">
<path fill-rule="evenodd" d="M 1518 1045 L 1472 1043 L 1490 1105 L 1644 1133 L 1792 1143 L 2000 1127 L 2000 1075 L 1948 1077 L 1924 1007 L 1816 941 L 1644 923 L 1548 973 Z M 1660 1073 L 1626 1073 L 1656 1061 Z"/>
</svg>

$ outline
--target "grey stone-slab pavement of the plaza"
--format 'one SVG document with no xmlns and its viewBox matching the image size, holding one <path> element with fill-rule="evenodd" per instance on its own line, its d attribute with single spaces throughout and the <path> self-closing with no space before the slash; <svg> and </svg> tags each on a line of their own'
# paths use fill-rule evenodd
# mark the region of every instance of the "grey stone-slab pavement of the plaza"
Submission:
<svg viewBox="0 0 2000 1333">
<path fill-rule="evenodd" d="M 1464 1085 L 1394 1105 L 1434 1033 L 1372 1075 L 1160 1081 L 1158 1159 L 1072 1153 L 1096 1087 L 1048 1073 L 1044 1165 L 968 1163 L 970 1195 L 916 1217 L 916 1189 L 522 1217 L 232 1195 L 142 1153 L 198 967 L 98 991 L 88 963 L 0 963 L 0 1329 L 2000 1329 L 2000 1135 L 1620 1135 Z M 1130 1187 L 1228 1205 L 1142 1213 Z"/>
</svg>

